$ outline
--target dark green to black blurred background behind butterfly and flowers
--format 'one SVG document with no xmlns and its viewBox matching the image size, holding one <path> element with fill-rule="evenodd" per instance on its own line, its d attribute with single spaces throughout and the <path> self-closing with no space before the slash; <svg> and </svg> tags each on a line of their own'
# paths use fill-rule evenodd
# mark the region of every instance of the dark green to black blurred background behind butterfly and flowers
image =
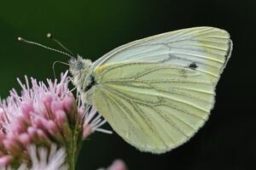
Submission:
<svg viewBox="0 0 256 170">
<path fill-rule="evenodd" d="M 193 139 L 158 156 L 136 150 L 116 133 L 94 133 L 84 142 L 77 169 L 108 167 L 116 158 L 130 170 L 255 168 L 255 0 L 9 0 L 0 9 L 1 98 L 20 89 L 16 77 L 53 78 L 52 63 L 68 59 L 18 42 L 19 36 L 60 48 L 45 37 L 51 32 L 73 52 L 95 60 L 126 42 L 166 31 L 192 26 L 229 31 L 233 54 L 218 82 L 212 115 Z M 55 70 L 60 74 L 67 66 Z"/>
</svg>

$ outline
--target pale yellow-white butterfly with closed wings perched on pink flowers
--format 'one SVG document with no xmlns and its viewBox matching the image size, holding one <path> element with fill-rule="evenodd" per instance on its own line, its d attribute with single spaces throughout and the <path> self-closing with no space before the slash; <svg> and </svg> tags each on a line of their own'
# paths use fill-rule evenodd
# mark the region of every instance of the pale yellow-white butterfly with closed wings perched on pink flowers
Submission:
<svg viewBox="0 0 256 170">
<path fill-rule="evenodd" d="M 91 62 L 69 60 L 73 84 L 138 150 L 164 153 L 207 121 L 232 51 L 227 31 L 194 27 L 143 38 Z"/>
</svg>

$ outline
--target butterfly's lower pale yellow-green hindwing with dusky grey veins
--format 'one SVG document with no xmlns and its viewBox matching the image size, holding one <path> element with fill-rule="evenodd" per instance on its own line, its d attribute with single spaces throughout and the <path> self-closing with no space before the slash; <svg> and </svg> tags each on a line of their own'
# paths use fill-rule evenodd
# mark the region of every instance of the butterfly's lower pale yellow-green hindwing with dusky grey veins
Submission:
<svg viewBox="0 0 256 170">
<path fill-rule="evenodd" d="M 214 86 L 203 74 L 153 63 L 103 65 L 91 99 L 116 133 L 139 150 L 163 153 L 206 122 Z"/>
</svg>

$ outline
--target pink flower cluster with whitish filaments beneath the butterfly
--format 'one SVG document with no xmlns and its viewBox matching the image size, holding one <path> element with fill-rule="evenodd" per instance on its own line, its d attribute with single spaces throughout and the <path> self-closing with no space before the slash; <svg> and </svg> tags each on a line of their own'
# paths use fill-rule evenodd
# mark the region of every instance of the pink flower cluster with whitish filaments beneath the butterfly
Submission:
<svg viewBox="0 0 256 170">
<path fill-rule="evenodd" d="M 76 101 L 67 72 L 60 82 L 47 82 L 26 77 L 21 94 L 13 89 L 0 101 L 0 168 L 45 170 L 58 160 L 53 169 L 74 169 L 83 139 L 94 131 L 111 133 L 101 128 L 105 121 L 94 108 Z M 38 160 L 45 166 L 34 167 L 40 166 Z"/>
</svg>

